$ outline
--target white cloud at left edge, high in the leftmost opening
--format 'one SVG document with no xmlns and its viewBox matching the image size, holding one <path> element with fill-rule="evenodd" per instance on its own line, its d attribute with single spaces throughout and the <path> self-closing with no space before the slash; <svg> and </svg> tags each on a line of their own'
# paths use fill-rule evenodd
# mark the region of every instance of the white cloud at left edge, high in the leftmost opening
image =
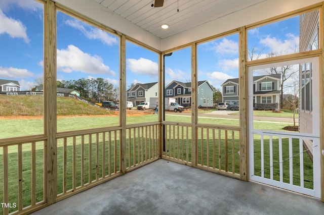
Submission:
<svg viewBox="0 0 324 215">
<path fill-rule="evenodd" d="M 9 34 L 11 38 L 23 38 L 26 43 L 29 43 L 29 38 L 26 32 L 27 28 L 19 20 L 7 17 L 0 10 L 0 34 Z"/>
</svg>

